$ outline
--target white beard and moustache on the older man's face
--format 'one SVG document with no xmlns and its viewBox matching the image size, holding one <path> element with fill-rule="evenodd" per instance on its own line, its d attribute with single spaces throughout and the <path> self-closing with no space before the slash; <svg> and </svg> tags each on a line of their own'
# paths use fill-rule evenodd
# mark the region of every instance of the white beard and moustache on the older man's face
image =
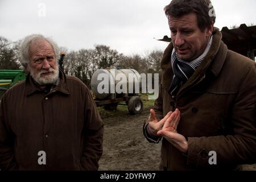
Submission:
<svg viewBox="0 0 256 182">
<path fill-rule="evenodd" d="M 42 77 L 42 73 L 53 72 L 53 75 Z M 59 78 L 59 65 L 56 64 L 56 69 L 49 68 L 48 71 L 42 70 L 39 73 L 34 73 L 34 70 L 30 67 L 30 75 L 39 85 L 54 84 Z"/>
</svg>

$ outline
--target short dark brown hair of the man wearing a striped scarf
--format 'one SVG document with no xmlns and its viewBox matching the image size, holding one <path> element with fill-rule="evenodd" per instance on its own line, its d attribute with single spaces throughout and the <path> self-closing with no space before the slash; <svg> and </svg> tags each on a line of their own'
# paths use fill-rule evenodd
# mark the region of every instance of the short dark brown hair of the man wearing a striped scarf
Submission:
<svg viewBox="0 0 256 182">
<path fill-rule="evenodd" d="M 216 15 L 210 0 L 172 0 L 164 7 L 167 18 L 180 17 L 189 13 L 197 14 L 197 26 L 201 31 L 215 23 Z"/>
</svg>

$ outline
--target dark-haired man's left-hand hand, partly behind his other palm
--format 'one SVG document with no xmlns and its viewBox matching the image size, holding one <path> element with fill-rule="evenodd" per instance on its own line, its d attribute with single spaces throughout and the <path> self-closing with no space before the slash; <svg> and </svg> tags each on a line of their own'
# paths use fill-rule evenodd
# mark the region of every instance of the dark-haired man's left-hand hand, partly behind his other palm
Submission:
<svg viewBox="0 0 256 182">
<path fill-rule="evenodd" d="M 152 137 L 158 137 L 156 133 L 158 133 L 159 130 L 162 130 L 162 127 L 164 125 L 164 122 L 170 117 L 172 114 L 172 111 L 170 111 L 168 114 L 166 114 L 166 117 L 158 121 L 155 118 L 155 111 L 154 109 L 150 110 L 150 116 L 148 117 L 148 131 L 152 135 Z"/>
</svg>

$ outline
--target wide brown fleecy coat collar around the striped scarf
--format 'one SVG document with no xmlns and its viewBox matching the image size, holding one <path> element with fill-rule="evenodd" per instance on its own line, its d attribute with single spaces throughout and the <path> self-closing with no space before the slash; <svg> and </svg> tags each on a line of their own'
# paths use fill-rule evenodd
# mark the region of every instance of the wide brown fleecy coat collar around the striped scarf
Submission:
<svg viewBox="0 0 256 182">
<path fill-rule="evenodd" d="M 218 76 L 225 62 L 226 52 L 228 50 L 228 48 L 221 41 L 221 39 L 222 39 L 222 35 L 220 30 L 214 27 L 213 42 L 208 54 L 205 56 L 205 59 L 201 62 L 199 67 L 197 67 L 195 73 L 193 73 L 193 75 L 189 78 L 189 80 L 181 87 L 181 90 L 195 84 L 195 82 L 198 81 L 200 78 L 204 78 L 205 72 L 207 72 L 207 70 L 212 72 L 214 76 L 216 77 Z M 161 83 L 163 87 L 167 90 L 170 87 L 172 77 L 174 76 L 174 73 L 171 67 L 172 49 L 174 49 L 174 46 L 171 42 L 169 46 L 166 48 L 166 50 L 164 51 L 163 59 L 160 63 L 160 66 L 162 68 Z"/>
</svg>

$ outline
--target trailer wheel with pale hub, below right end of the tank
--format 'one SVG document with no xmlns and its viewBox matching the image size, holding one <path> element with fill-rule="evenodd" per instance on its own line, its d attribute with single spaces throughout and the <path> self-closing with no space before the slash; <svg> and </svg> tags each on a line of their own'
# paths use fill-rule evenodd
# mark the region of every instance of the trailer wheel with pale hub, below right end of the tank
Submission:
<svg viewBox="0 0 256 182">
<path fill-rule="evenodd" d="M 130 114 L 139 114 L 143 110 L 143 102 L 141 100 L 141 97 L 139 96 L 133 96 L 128 101 L 128 110 Z"/>
</svg>

